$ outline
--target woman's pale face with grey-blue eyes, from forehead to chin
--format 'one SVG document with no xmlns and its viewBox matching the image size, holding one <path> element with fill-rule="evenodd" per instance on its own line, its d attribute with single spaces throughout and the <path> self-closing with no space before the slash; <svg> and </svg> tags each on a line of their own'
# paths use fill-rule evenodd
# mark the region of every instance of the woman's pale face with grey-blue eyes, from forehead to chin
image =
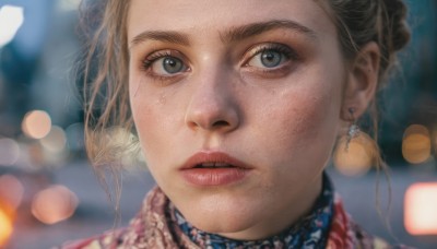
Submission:
<svg viewBox="0 0 437 249">
<path fill-rule="evenodd" d="M 308 212 L 340 127 L 336 37 L 316 1 L 132 0 L 134 123 L 194 226 L 258 239 Z"/>
</svg>

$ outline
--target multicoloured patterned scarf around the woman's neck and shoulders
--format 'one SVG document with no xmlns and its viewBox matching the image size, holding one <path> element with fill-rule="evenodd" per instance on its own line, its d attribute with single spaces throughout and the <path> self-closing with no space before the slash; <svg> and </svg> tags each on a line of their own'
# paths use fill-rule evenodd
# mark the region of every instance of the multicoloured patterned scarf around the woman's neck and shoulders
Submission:
<svg viewBox="0 0 437 249">
<path fill-rule="evenodd" d="M 323 176 L 323 191 L 312 212 L 294 226 L 272 238 L 238 241 L 208 234 L 192 227 L 169 202 L 160 188 L 154 188 L 129 226 L 103 235 L 70 241 L 62 249 L 200 249 L 200 248 L 327 248 L 387 249 L 386 241 L 373 237 L 356 225 L 343 209 L 331 183 Z"/>
</svg>

